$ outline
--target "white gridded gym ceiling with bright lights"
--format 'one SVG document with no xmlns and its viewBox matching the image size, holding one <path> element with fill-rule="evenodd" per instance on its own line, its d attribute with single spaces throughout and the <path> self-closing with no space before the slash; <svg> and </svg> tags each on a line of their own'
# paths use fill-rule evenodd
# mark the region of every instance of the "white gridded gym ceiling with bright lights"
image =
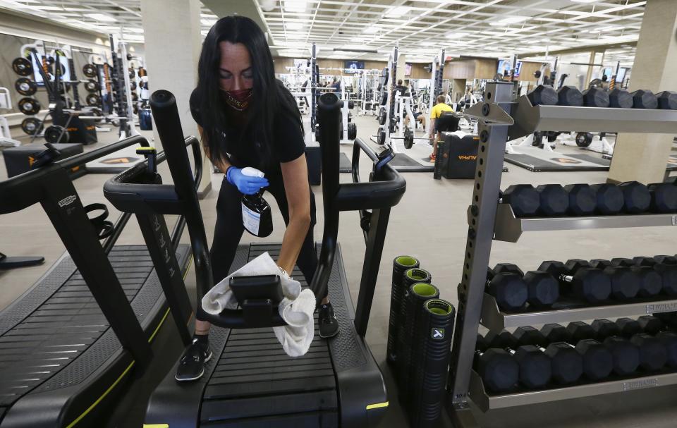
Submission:
<svg viewBox="0 0 677 428">
<path fill-rule="evenodd" d="M 646 1 L 641 0 L 221 0 L 255 6 L 280 56 L 386 59 L 398 46 L 407 61 L 452 56 L 542 56 L 612 44 L 609 58 L 632 63 Z M 217 10 L 216 3 L 205 0 Z M 143 42 L 140 0 L 0 0 L 0 8 Z M 221 11 L 219 11 L 220 13 Z M 202 4 L 202 35 L 218 18 Z M 356 51 L 357 50 L 357 51 Z M 362 50 L 360 52 L 359 50 Z M 367 52 L 365 52 L 367 51 Z"/>
</svg>

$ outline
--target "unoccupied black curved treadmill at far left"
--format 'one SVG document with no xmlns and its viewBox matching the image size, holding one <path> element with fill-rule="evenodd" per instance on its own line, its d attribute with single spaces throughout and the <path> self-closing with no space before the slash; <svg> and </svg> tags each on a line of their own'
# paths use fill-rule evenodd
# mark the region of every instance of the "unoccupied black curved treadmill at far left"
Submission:
<svg viewBox="0 0 677 428">
<path fill-rule="evenodd" d="M 185 143 L 200 151 L 197 139 Z M 152 362 L 150 341 L 169 312 L 164 293 L 177 293 L 161 272 L 173 264 L 183 273 L 190 262 L 190 247 L 178 244 L 185 221 L 171 236 L 164 230 L 170 262 L 145 245 L 114 245 L 130 214 L 112 224 L 105 205 L 83 207 L 69 173 L 132 145 L 148 143 L 134 136 L 54 161 L 59 152 L 48 144 L 32 171 L 0 183 L 0 214 L 39 203 L 66 246 L 47 274 L 0 311 L 1 428 L 100 427 L 121 386 Z M 99 213 L 90 220 L 92 209 Z M 190 338 L 188 311 L 178 326 Z"/>
</svg>

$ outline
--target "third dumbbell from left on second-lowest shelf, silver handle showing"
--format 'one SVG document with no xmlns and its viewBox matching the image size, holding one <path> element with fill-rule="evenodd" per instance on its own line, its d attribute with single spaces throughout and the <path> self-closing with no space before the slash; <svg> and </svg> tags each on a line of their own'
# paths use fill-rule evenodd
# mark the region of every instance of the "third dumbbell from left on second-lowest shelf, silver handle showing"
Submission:
<svg viewBox="0 0 677 428">
<path fill-rule="evenodd" d="M 585 260 L 572 259 L 566 264 L 549 260 L 542 262 L 538 270 L 548 272 L 568 288 L 569 294 L 587 302 L 602 302 L 611 295 L 609 278 L 601 269 L 594 269 Z"/>
</svg>

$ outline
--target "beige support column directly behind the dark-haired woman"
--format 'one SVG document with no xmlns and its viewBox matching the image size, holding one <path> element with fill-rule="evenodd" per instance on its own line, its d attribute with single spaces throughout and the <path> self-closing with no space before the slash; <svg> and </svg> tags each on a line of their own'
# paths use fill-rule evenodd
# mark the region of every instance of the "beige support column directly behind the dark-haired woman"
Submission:
<svg viewBox="0 0 677 428">
<path fill-rule="evenodd" d="M 199 0 L 141 0 L 145 59 L 150 92 L 164 89 L 176 97 L 183 135 L 198 135 L 190 115 L 190 92 L 197 85 L 200 58 Z M 171 23 L 171 27 L 168 27 Z M 155 145 L 160 145 L 154 130 Z M 202 160 L 202 182 L 197 192 L 205 197 L 212 188 L 212 164 Z"/>
</svg>

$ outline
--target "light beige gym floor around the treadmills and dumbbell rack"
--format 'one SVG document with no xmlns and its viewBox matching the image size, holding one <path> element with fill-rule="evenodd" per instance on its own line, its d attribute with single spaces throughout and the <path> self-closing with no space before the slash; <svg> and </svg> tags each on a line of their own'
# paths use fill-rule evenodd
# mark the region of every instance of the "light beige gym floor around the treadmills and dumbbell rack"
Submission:
<svg viewBox="0 0 677 428">
<path fill-rule="evenodd" d="M 353 113 L 358 128 L 358 136 L 368 140 L 376 133 L 375 116 L 358 116 Z M 20 130 L 13 130 L 19 134 Z M 152 132 L 142 132 L 152 138 Z M 16 137 L 16 135 L 15 135 Z M 86 147 L 87 150 L 100 147 L 116 140 L 116 132 L 99 133 L 99 143 Z M 154 142 L 159 148 L 159 142 Z M 352 147 L 342 145 L 341 150 L 350 157 Z M 577 152 L 573 147 L 561 147 L 564 153 Z M 587 152 L 592 154 L 592 152 Z M 368 176 L 369 162 L 362 161 L 362 177 Z M 503 174 L 501 188 L 511 184 L 532 183 L 604 183 L 606 172 L 561 172 L 531 173 L 518 166 L 509 165 L 509 172 Z M 164 181 L 171 177 L 166 164 L 159 167 Z M 389 233 L 386 237 L 377 291 L 370 318 L 367 342 L 374 357 L 381 363 L 384 377 L 391 397 L 391 405 L 381 427 L 403 427 L 403 413 L 397 403 L 396 386 L 385 364 L 386 338 L 388 329 L 390 282 L 392 260 L 398 255 L 413 255 L 420 259 L 421 266 L 432 273 L 433 283 L 440 289 L 441 298 L 456 305 L 456 286 L 461 278 L 463 252 L 468 230 L 466 209 L 470 203 L 472 181 L 435 181 L 432 173 L 405 173 L 407 192 L 391 213 Z M 0 180 L 6 179 L 4 162 L 0 162 Z M 106 202 L 102 187 L 108 174 L 87 174 L 75 180 L 80 197 L 85 203 Z M 213 190 L 201 201 L 202 214 L 205 217 L 208 237 L 212 236 L 216 219 L 215 205 L 222 174 L 212 175 Z M 342 173 L 341 181 L 350 181 L 350 174 Z M 322 197 L 322 188 L 313 188 L 315 196 Z M 267 197 L 271 204 L 274 198 Z M 321 207 L 322 204 L 319 204 Z M 118 213 L 109 206 L 111 219 Z M 248 240 L 281 241 L 284 228 L 279 211 L 274 207 L 275 230 L 269 238 L 259 240 L 245 234 L 243 243 Z M 315 239 L 322 239 L 322 209 L 317 213 Z M 168 221 L 169 225 L 173 220 Z M 494 242 L 491 264 L 513 262 L 524 270 L 535 269 L 542 260 L 571 258 L 593 259 L 611 257 L 633 257 L 639 255 L 673 254 L 675 238 L 665 233 L 664 228 L 606 229 L 599 231 L 560 231 L 525 233 L 518 243 Z M 14 214 L 0 216 L 0 251 L 7 255 L 42 255 L 42 266 L 0 271 L 0 309 L 6 307 L 32 283 L 44 274 L 51 264 L 63 253 L 63 245 L 51 227 L 47 216 L 39 205 Z M 350 283 L 353 301 L 357 299 L 362 257 L 365 251 L 358 214 L 348 212 L 341 215 L 338 240 L 343 252 L 343 262 Z M 183 241 L 188 242 L 188 233 Z M 119 244 L 143 243 L 141 233 L 135 221 L 130 221 Z M 191 268 L 186 277 L 190 295 L 195 295 L 195 276 Z M 181 353 L 176 340 L 176 332 L 171 323 L 166 323 L 154 341 L 156 366 L 141 379 L 127 384 L 122 391 L 124 398 L 118 407 L 111 411 L 106 427 L 139 427 L 145 412 L 147 395 L 154 385 L 167 372 Z M 482 413 L 474 409 L 477 421 L 482 427 L 674 427 L 677 410 L 674 410 L 672 393 L 677 387 L 667 386 L 657 389 L 617 393 L 607 396 L 580 398 L 564 402 L 534 405 L 530 408 L 512 408 Z M 444 415 L 444 424 L 449 426 Z"/>
</svg>

